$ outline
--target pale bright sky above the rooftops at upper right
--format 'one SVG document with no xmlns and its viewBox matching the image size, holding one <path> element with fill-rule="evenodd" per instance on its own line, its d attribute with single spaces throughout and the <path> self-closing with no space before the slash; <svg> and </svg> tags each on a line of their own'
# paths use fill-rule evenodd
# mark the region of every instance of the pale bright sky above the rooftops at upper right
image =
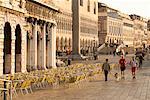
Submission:
<svg viewBox="0 0 150 100">
<path fill-rule="evenodd" d="M 150 18 L 150 0 L 98 0 L 126 14 Z"/>
</svg>

